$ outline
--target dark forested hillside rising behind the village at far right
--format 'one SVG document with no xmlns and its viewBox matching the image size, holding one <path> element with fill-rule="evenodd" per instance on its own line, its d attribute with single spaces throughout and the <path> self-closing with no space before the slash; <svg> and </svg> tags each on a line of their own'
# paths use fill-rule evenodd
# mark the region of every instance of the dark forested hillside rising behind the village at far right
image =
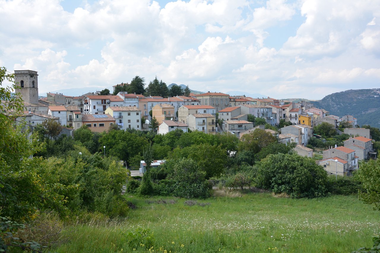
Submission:
<svg viewBox="0 0 380 253">
<path fill-rule="evenodd" d="M 380 89 L 346 90 L 332 93 L 313 104 L 330 114 L 342 117 L 353 115 L 359 125 L 380 128 Z"/>
</svg>

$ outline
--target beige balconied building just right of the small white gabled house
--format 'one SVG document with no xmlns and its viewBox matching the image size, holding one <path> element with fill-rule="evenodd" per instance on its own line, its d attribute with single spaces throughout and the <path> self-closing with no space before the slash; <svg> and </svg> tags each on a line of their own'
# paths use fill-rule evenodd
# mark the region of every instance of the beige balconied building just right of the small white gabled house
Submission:
<svg viewBox="0 0 380 253">
<path fill-rule="evenodd" d="M 208 113 L 190 114 L 187 116 L 187 125 L 192 131 L 215 133 L 215 123 L 215 116 Z"/>
</svg>

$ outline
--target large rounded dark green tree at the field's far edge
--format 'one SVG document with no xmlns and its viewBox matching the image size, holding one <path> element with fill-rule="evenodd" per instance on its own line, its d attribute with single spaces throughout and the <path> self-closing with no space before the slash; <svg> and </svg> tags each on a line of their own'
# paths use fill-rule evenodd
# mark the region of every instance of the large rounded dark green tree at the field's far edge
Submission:
<svg viewBox="0 0 380 253">
<path fill-rule="evenodd" d="M 327 174 L 313 158 L 298 154 L 269 155 L 258 169 L 258 187 L 291 198 L 316 198 L 327 193 Z"/>
</svg>

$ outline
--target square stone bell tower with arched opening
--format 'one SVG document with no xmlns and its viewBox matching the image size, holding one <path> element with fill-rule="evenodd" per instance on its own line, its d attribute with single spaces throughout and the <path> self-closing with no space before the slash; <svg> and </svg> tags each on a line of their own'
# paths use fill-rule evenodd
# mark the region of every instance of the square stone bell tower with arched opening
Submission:
<svg viewBox="0 0 380 253">
<path fill-rule="evenodd" d="M 30 104 L 38 105 L 38 74 L 32 70 L 15 70 L 14 81 L 16 92 L 21 93 L 22 99 Z"/>
</svg>

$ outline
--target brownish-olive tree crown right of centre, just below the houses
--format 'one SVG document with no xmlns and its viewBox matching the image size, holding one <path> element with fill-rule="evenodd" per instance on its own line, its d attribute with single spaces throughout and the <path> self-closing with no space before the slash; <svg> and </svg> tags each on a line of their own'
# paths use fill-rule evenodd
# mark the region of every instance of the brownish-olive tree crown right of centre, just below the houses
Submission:
<svg viewBox="0 0 380 253">
<path fill-rule="evenodd" d="M 239 151 L 250 150 L 253 153 L 258 153 L 263 147 L 268 146 L 272 142 L 277 142 L 275 136 L 265 130 L 255 129 L 255 131 L 242 136 L 239 143 Z"/>
</svg>

